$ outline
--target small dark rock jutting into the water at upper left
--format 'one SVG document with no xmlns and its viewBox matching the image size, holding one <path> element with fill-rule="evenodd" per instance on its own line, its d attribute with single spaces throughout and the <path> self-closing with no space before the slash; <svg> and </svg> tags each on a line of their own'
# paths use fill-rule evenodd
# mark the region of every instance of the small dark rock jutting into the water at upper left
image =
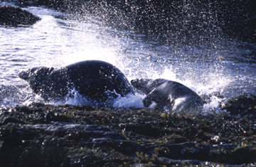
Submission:
<svg viewBox="0 0 256 167">
<path fill-rule="evenodd" d="M 34 16 L 28 11 L 22 10 L 14 6 L 0 6 L 0 25 L 4 26 L 20 26 L 33 25 L 40 20 L 38 16 Z"/>
</svg>

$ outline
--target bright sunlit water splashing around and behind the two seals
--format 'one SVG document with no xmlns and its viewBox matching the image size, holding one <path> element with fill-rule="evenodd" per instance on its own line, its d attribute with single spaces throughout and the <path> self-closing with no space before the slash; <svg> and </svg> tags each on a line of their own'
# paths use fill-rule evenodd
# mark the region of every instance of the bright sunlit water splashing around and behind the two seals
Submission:
<svg viewBox="0 0 256 167">
<path fill-rule="evenodd" d="M 0 6 L 6 3 L 0 3 Z M 33 26 L 0 26 L 0 107 L 43 102 L 18 78 L 18 72 L 37 66 L 60 68 L 82 60 L 104 60 L 128 80 L 165 78 L 181 82 L 208 99 L 205 110 L 242 94 L 255 94 L 256 45 L 228 38 L 184 39 L 144 36 L 121 31 L 95 18 L 68 16 L 42 7 L 28 7 L 39 16 Z M 218 95 L 223 95 L 222 98 Z M 143 107 L 144 95 L 118 98 L 114 107 Z M 77 95 L 65 102 L 87 104 Z"/>
</svg>

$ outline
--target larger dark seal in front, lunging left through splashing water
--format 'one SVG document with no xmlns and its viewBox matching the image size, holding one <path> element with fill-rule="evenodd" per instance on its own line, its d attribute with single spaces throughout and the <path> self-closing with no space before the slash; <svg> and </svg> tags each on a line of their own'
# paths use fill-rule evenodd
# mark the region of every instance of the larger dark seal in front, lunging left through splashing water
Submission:
<svg viewBox="0 0 256 167">
<path fill-rule="evenodd" d="M 73 88 L 99 103 L 118 95 L 134 94 L 124 74 L 114 65 L 100 60 L 86 60 L 59 69 L 31 68 L 18 75 L 46 101 L 65 99 Z"/>
</svg>

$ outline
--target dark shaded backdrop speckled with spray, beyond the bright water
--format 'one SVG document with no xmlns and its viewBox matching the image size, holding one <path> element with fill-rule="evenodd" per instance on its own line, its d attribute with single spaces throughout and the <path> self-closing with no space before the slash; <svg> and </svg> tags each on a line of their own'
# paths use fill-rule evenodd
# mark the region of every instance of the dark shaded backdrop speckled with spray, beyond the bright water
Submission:
<svg viewBox="0 0 256 167">
<path fill-rule="evenodd" d="M 82 1 L 33 0 L 73 14 L 104 16 L 109 26 L 127 28 L 141 33 L 154 33 L 174 38 L 239 37 L 255 39 L 256 13 L 254 0 L 233 1 Z"/>
</svg>

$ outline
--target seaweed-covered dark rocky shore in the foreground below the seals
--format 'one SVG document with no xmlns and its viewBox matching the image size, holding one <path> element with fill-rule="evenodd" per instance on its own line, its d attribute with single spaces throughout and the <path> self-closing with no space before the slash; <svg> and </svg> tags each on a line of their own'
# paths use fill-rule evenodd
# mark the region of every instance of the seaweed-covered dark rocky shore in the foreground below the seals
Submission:
<svg viewBox="0 0 256 167">
<path fill-rule="evenodd" d="M 255 166 L 255 95 L 230 99 L 223 109 L 2 108 L 0 165 Z"/>
</svg>

